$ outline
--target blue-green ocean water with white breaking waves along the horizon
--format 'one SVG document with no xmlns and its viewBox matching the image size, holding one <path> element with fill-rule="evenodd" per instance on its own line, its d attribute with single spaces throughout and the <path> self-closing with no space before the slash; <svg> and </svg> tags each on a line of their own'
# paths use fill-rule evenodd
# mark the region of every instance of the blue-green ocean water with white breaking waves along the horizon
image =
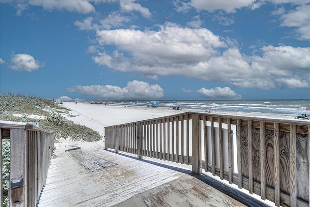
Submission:
<svg viewBox="0 0 310 207">
<path fill-rule="evenodd" d="M 156 100 L 154 100 L 156 101 Z M 210 112 L 247 112 L 247 113 L 266 113 L 287 116 L 300 116 L 309 114 L 310 99 L 299 100 L 164 100 L 156 101 L 158 107 L 180 107 L 183 110 L 205 110 Z M 113 104 L 145 106 L 152 101 L 110 101 Z"/>
</svg>

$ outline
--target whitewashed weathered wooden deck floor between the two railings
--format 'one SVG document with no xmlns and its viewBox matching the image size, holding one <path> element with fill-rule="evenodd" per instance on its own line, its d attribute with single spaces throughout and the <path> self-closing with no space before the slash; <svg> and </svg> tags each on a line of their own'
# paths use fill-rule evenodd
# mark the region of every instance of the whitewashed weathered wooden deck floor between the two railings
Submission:
<svg viewBox="0 0 310 207">
<path fill-rule="evenodd" d="M 205 175 L 194 176 L 191 166 L 80 147 L 116 165 L 91 172 L 60 153 L 51 160 L 38 207 L 246 206 L 203 182 Z"/>
</svg>

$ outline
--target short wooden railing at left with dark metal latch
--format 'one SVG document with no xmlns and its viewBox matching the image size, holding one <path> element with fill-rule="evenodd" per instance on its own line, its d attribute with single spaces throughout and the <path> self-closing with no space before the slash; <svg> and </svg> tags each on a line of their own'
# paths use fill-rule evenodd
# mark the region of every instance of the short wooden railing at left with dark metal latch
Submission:
<svg viewBox="0 0 310 207">
<path fill-rule="evenodd" d="M 54 145 L 54 133 L 27 123 L 0 121 L 0 138 L 1 150 L 2 139 L 10 139 L 10 207 L 35 207 L 45 185 Z"/>
</svg>

